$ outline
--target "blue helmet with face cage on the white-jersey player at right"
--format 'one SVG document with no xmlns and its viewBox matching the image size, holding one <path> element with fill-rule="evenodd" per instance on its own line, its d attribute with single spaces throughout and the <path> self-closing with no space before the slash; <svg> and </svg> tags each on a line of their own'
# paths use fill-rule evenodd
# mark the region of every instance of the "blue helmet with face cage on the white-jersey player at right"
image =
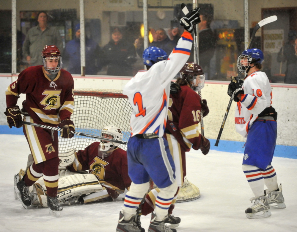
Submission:
<svg viewBox="0 0 297 232">
<path fill-rule="evenodd" d="M 238 57 L 237 67 L 241 73 L 244 73 L 251 64 L 260 63 L 264 60 L 263 52 L 260 49 L 247 49 Z M 246 62 L 243 62 L 246 61 Z"/>
</svg>

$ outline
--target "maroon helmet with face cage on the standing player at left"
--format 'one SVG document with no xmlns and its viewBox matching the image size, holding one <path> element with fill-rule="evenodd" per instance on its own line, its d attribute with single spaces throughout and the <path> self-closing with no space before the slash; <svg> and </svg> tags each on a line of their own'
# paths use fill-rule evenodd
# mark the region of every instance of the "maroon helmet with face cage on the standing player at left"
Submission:
<svg viewBox="0 0 297 232">
<path fill-rule="evenodd" d="M 56 74 L 58 73 L 61 68 L 62 68 L 62 57 L 61 57 L 61 52 L 59 51 L 58 47 L 56 45 L 45 45 L 43 48 L 43 51 L 41 52 L 41 57 L 43 61 L 43 66 L 44 69 L 49 73 L 49 74 Z M 47 67 L 46 61 L 48 59 L 58 59 L 59 63 L 57 67 Z"/>
</svg>

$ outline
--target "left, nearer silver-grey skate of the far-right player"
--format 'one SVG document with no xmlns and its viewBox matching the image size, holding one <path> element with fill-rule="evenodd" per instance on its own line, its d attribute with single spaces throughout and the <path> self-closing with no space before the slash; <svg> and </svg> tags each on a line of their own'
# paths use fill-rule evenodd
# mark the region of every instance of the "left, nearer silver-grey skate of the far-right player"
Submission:
<svg viewBox="0 0 297 232">
<path fill-rule="evenodd" d="M 246 217 L 249 219 L 254 218 L 263 218 L 263 217 L 270 217 L 270 207 L 268 205 L 267 197 L 261 196 L 261 197 L 253 197 L 250 199 L 251 201 L 254 201 L 254 204 L 246 209 Z"/>
</svg>

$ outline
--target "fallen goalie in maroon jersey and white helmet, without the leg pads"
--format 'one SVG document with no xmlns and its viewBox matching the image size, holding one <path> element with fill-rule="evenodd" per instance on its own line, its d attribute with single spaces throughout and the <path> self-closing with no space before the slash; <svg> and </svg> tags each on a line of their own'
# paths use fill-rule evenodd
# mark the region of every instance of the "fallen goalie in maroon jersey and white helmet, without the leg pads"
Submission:
<svg viewBox="0 0 297 232">
<path fill-rule="evenodd" d="M 104 127 L 101 136 L 118 141 L 123 138 L 121 129 L 113 125 Z M 103 187 L 103 191 L 81 197 L 82 203 L 112 201 L 129 189 L 131 179 L 128 175 L 127 152 L 118 145 L 104 140 L 92 143 L 85 150 L 76 152 L 73 164 L 66 167 L 73 172 L 89 170 Z"/>
</svg>

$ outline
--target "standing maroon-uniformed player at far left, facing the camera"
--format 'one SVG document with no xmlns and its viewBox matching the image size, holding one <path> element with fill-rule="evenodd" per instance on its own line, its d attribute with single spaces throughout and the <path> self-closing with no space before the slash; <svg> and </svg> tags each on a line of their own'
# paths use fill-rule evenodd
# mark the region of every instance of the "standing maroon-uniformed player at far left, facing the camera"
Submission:
<svg viewBox="0 0 297 232">
<path fill-rule="evenodd" d="M 41 58 L 43 66 L 32 66 L 22 71 L 18 80 L 6 89 L 7 122 L 10 128 L 22 127 L 24 121 L 58 126 L 63 138 L 72 138 L 75 132 L 70 120 L 73 113 L 73 78 L 62 68 L 62 57 L 55 45 L 45 46 Z M 22 112 L 17 104 L 20 94 L 26 94 Z M 47 204 L 50 213 L 60 215 L 62 206 L 57 200 L 58 188 L 58 132 L 24 125 L 34 163 L 15 186 L 15 191 L 24 208 L 31 205 L 29 187 L 41 176 L 47 189 Z"/>
</svg>

